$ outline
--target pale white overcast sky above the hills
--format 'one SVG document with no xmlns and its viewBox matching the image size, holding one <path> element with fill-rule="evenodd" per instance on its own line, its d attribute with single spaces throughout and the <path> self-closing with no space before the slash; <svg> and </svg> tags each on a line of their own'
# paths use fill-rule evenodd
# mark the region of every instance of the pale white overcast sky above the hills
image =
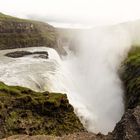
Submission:
<svg viewBox="0 0 140 140">
<path fill-rule="evenodd" d="M 140 0 L 0 0 L 0 12 L 53 24 L 97 26 L 140 19 Z"/>
</svg>

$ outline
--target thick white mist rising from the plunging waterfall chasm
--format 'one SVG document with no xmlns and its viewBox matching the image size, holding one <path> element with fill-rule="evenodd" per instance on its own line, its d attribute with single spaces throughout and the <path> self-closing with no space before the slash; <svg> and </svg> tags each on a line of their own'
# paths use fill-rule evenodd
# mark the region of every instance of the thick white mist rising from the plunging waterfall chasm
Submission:
<svg viewBox="0 0 140 140">
<path fill-rule="evenodd" d="M 139 43 L 136 23 L 81 31 L 75 39 L 77 52 L 68 51 L 63 61 L 71 79 L 71 84 L 65 80 L 70 103 L 88 131 L 107 134 L 124 113 L 119 70 L 132 45 Z"/>
</svg>

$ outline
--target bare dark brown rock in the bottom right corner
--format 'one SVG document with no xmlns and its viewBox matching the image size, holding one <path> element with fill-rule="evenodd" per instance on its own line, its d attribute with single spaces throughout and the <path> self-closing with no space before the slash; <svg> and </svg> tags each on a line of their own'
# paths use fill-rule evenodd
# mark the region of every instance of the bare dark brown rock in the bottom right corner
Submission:
<svg viewBox="0 0 140 140">
<path fill-rule="evenodd" d="M 140 106 L 126 111 L 112 135 L 115 140 L 140 140 Z"/>
</svg>

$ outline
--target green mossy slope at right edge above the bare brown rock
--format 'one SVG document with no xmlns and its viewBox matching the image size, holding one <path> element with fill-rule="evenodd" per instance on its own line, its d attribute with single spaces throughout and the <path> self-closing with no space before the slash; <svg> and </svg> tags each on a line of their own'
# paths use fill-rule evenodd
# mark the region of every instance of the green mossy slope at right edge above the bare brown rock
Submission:
<svg viewBox="0 0 140 140">
<path fill-rule="evenodd" d="M 126 88 L 126 109 L 140 105 L 140 47 L 133 47 L 124 62 L 122 79 Z"/>
</svg>

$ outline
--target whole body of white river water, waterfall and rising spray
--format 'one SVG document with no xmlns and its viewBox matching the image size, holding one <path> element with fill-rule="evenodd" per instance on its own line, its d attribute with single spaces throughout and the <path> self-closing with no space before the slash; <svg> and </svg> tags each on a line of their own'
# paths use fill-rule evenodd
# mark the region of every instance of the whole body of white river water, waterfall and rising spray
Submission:
<svg viewBox="0 0 140 140">
<path fill-rule="evenodd" d="M 67 93 L 84 126 L 106 134 L 124 112 L 118 69 L 131 44 L 136 43 L 136 29 L 118 25 L 87 30 L 78 35 L 77 54 L 69 52 L 63 60 L 46 47 L 0 51 L 0 81 L 36 91 Z M 16 50 L 48 51 L 49 59 L 4 56 Z"/>
</svg>

